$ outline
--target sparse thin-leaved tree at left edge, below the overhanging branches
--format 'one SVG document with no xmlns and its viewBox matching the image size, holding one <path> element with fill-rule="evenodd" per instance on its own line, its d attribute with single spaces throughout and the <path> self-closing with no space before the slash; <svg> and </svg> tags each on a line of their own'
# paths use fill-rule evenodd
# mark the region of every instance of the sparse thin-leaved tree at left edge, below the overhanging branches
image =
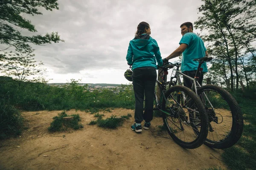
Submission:
<svg viewBox="0 0 256 170">
<path fill-rule="evenodd" d="M 33 58 L 35 54 L 20 52 L 9 53 L 4 62 L 0 62 L 2 73 L 8 76 L 14 76 L 19 81 L 45 82 L 44 77 L 46 69 L 41 66 L 43 62 L 36 62 Z"/>
</svg>

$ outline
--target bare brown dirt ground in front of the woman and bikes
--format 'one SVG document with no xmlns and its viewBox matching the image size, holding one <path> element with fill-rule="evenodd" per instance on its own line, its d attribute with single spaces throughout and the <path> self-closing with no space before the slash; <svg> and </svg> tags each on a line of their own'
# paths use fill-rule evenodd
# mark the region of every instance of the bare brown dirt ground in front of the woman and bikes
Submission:
<svg viewBox="0 0 256 170">
<path fill-rule="evenodd" d="M 1 170 L 202 170 L 227 167 L 220 160 L 221 150 L 205 145 L 184 149 L 168 133 L 159 135 L 161 118 L 154 117 L 149 130 L 135 133 L 130 129 L 133 118 L 114 130 L 88 125 L 93 114 L 79 114 L 84 128 L 49 133 L 52 117 L 62 111 L 22 112 L 29 129 L 18 138 L 0 141 Z M 123 116 L 134 111 L 115 109 L 104 113 Z"/>
</svg>

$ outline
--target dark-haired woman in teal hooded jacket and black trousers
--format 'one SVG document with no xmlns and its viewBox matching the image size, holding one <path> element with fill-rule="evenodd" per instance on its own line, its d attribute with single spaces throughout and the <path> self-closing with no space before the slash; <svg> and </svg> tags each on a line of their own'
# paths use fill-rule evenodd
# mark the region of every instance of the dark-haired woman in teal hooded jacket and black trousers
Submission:
<svg viewBox="0 0 256 170">
<path fill-rule="evenodd" d="M 148 130 L 153 119 L 154 88 L 157 79 L 157 63 L 163 61 L 157 41 L 150 37 L 151 29 L 148 23 L 141 22 L 137 26 L 135 37 L 130 41 L 126 60 L 132 65 L 132 81 L 135 96 L 134 125 L 131 130 L 142 132 L 141 122 L 145 120 L 144 129 Z M 145 111 L 143 99 L 145 92 Z"/>
</svg>

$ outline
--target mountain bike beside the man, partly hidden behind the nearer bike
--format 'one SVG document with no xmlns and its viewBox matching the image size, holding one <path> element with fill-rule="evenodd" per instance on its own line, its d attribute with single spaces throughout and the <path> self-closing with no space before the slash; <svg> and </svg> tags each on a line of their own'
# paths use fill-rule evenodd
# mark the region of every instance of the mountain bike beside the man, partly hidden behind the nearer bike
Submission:
<svg viewBox="0 0 256 170">
<path fill-rule="evenodd" d="M 240 139 L 243 132 L 243 116 L 241 109 L 234 97 L 217 85 L 201 85 L 198 82 L 201 65 L 208 62 L 212 57 L 194 59 L 198 61 L 195 77 L 189 77 L 179 71 L 181 63 L 171 63 L 174 69 L 169 81 L 169 87 L 182 85 L 180 75 L 193 81 L 191 89 L 200 97 L 204 103 L 209 119 L 209 132 L 205 144 L 209 147 L 224 149 L 231 147 Z"/>
</svg>

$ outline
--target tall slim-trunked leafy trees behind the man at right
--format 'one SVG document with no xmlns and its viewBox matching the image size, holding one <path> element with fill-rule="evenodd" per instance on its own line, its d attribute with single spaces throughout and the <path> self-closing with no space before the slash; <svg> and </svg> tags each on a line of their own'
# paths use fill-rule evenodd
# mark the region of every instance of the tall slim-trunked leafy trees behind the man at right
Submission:
<svg viewBox="0 0 256 170">
<path fill-rule="evenodd" d="M 207 31 L 203 39 L 209 42 L 215 61 L 223 62 L 222 70 L 229 67 L 231 91 L 238 89 L 239 78 L 246 69 L 240 57 L 246 56 L 247 46 L 256 40 L 256 1 L 246 0 L 202 0 L 204 5 L 199 9 L 203 14 L 195 22 L 195 28 Z M 253 48 L 251 48 L 253 49 Z M 254 51 L 253 51 L 254 52 Z M 245 64 L 246 62 L 243 62 Z M 248 65 L 247 65 L 248 66 Z M 226 77 L 227 79 L 227 77 Z M 248 80 L 247 80 L 248 81 Z M 248 85 L 248 83 L 247 83 Z"/>
</svg>

